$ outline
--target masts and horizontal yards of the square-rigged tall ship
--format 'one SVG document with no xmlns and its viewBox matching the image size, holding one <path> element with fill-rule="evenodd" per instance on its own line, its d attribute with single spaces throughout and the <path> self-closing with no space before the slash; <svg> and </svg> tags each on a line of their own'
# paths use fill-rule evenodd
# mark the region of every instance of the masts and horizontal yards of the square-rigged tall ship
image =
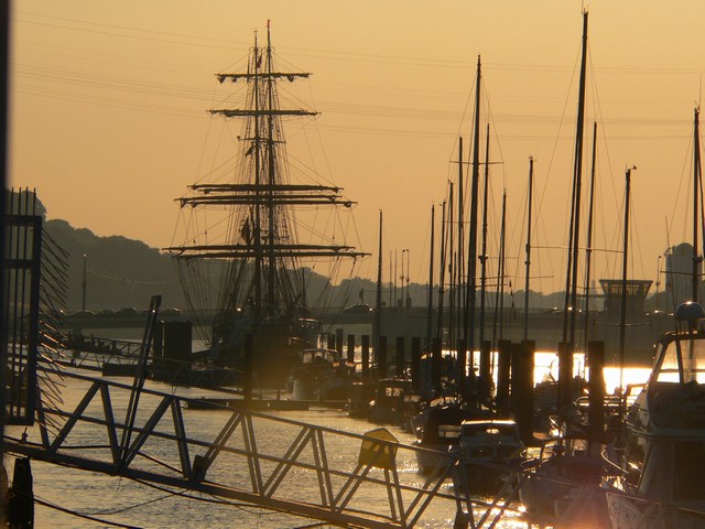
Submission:
<svg viewBox="0 0 705 529">
<path fill-rule="evenodd" d="M 187 196 L 177 198 L 181 207 L 231 212 L 228 235 L 223 241 L 187 244 L 165 248 L 182 262 L 203 260 L 229 263 L 223 281 L 218 310 L 249 307 L 254 322 L 292 317 L 303 303 L 304 285 L 299 284 L 303 258 L 357 258 L 368 253 L 336 241 L 300 244 L 292 223 L 297 206 L 350 208 L 356 203 L 340 195 L 340 187 L 289 182 L 282 118 L 313 117 L 318 112 L 303 108 L 281 108 L 278 84 L 308 78 L 310 73 L 275 68 L 274 50 L 268 23 L 267 44 L 260 47 L 257 33 L 246 72 L 218 73 L 223 84 L 243 82 L 245 105 L 208 110 L 226 119 L 242 118 L 240 161 L 237 181 L 199 183 Z"/>
</svg>

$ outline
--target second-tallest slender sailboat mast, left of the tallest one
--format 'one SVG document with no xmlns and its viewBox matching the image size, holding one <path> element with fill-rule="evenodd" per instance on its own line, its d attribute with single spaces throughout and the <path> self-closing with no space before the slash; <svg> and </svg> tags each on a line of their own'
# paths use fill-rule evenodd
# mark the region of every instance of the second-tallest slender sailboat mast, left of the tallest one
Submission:
<svg viewBox="0 0 705 529">
<path fill-rule="evenodd" d="M 468 288 L 466 290 L 466 315 L 464 319 L 465 343 L 470 352 L 470 366 L 475 356 L 475 291 L 477 290 L 477 193 L 480 179 L 480 82 L 481 63 L 477 56 L 477 79 L 475 87 L 475 138 L 473 140 L 473 192 L 470 195 L 470 235 L 467 252 Z"/>
</svg>

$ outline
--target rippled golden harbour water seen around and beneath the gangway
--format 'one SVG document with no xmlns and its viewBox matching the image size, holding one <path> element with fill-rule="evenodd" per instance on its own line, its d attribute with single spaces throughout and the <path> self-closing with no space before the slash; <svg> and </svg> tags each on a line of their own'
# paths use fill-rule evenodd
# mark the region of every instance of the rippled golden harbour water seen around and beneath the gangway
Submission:
<svg viewBox="0 0 705 529">
<path fill-rule="evenodd" d="M 552 367 L 554 354 L 536 354 L 536 380 L 541 380 L 547 369 Z M 576 355 L 576 370 L 582 368 L 582 358 Z M 648 369 L 626 369 L 623 379 L 626 384 L 640 384 L 646 381 L 649 374 Z M 608 390 L 611 390 L 619 384 L 619 370 L 608 368 L 605 371 L 605 378 Z M 126 382 L 127 379 L 116 379 Z M 163 392 L 177 392 L 185 397 L 202 397 L 207 392 L 198 389 L 178 388 L 174 390 L 170 386 L 151 382 L 151 389 Z M 64 388 L 63 398 L 66 402 L 65 409 L 73 409 L 78 399 L 83 397 L 87 382 L 76 381 L 72 379 L 70 386 Z M 127 393 L 124 393 L 127 395 Z M 123 401 L 119 399 L 123 398 Z M 149 409 L 149 399 L 143 400 L 144 409 Z M 116 407 L 127 407 L 126 397 L 115 398 Z M 183 410 L 186 421 L 187 432 L 198 432 L 199 439 L 213 439 L 220 431 L 223 424 L 229 413 L 221 411 L 206 410 Z M 280 417 L 285 417 L 295 421 L 318 424 L 323 427 L 334 428 L 346 432 L 365 433 L 377 427 L 367 421 L 348 418 L 344 411 L 296 411 L 280 412 Z M 389 430 L 402 443 L 411 443 L 412 436 L 400 429 L 390 427 Z M 17 431 L 11 434 L 19 435 Z M 93 435 L 104 434 L 90 429 L 78 430 L 76 432 L 76 441 L 82 443 L 90 443 Z M 35 434 L 30 431 L 30 439 L 36 441 Z M 289 446 L 291 436 L 285 429 L 279 424 L 263 423 L 257 429 L 257 442 L 259 446 Z M 69 438 L 70 441 L 70 438 Z M 96 439 L 96 443 L 101 440 Z M 327 441 L 326 441 L 327 442 Z M 327 442 L 328 443 L 328 442 Z M 328 454 L 356 455 L 359 451 L 359 442 L 354 439 L 345 438 L 332 441 L 327 444 Z M 335 444 L 338 443 L 338 444 Z M 159 454 L 159 446 L 151 446 L 151 453 Z M 282 449 L 283 450 L 283 449 Z M 411 479 L 415 483 L 422 483 L 422 476 L 415 471 L 416 465 L 411 452 L 400 453 L 398 458 L 400 473 L 404 479 Z M 11 472 L 12 464 L 8 465 Z M 205 503 L 194 498 L 185 498 L 173 494 L 172 492 L 159 490 L 135 482 L 105 476 L 85 471 L 66 468 L 63 466 L 51 465 L 40 462 L 33 462 L 34 492 L 35 495 L 45 500 L 64 508 L 95 516 L 111 522 L 121 523 L 133 527 L 193 527 L 193 528 L 217 528 L 217 527 L 258 527 L 269 528 L 293 528 L 311 523 L 306 520 L 290 515 L 271 512 L 258 507 L 241 505 L 217 505 Z M 242 468 L 234 464 L 227 465 L 215 472 L 223 473 L 220 476 L 212 474 L 212 478 L 223 477 L 224 479 L 232 478 L 232 476 L 242 474 Z M 316 482 L 317 483 L 317 482 Z M 295 484 L 297 493 L 302 499 L 315 498 L 318 495 L 317 486 L 312 482 L 306 483 L 301 479 Z M 448 485 L 449 486 L 449 485 Z M 207 498 L 210 499 L 210 498 Z M 362 497 L 365 500 L 365 497 Z M 379 501 L 379 498 L 371 496 L 367 498 L 370 503 Z M 425 521 L 419 527 L 453 527 L 453 518 L 455 509 L 446 501 L 434 500 L 429 509 Z M 360 507 L 364 507 L 360 506 Z M 35 510 L 35 523 L 40 528 L 48 527 L 76 527 L 76 528 L 95 528 L 110 527 L 107 525 L 96 523 L 85 519 L 77 518 L 57 510 L 37 506 Z M 525 525 L 505 519 L 497 527 L 518 528 Z"/>
</svg>

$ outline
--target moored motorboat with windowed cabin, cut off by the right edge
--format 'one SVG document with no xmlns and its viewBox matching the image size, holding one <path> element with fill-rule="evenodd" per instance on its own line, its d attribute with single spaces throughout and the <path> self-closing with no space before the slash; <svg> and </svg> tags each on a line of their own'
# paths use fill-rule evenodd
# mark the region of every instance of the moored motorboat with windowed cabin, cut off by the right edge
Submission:
<svg viewBox="0 0 705 529">
<path fill-rule="evenodd" d="M 705 527 L 705 311 L 676 311 L 687 328 L 665 333 L 653 370 L 626 419 L 618 476 L 607 485 L 612 527 Z"/>
</svg>

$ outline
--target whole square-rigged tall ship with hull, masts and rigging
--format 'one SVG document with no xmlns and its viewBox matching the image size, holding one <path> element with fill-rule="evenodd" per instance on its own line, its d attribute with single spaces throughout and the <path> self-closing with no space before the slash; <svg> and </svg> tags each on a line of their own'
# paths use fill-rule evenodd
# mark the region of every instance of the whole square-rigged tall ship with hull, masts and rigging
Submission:
<svg viewBox="0 0 705 529">
<path fill-rule="evenodd" d="M 329 283 L 330 277 L 322 280 L 313 269 L 325 261 L 327 271 L 337 273 L 343 261 L 368 255 L 339 241 L 339 218 L 333 235 L 333 227 L 328 233 L 313 227 L 321 208 L 338 214 L 356 203 L 286 153 L 284 119 L 317 112 L 283 108 L 280 87 L 310 76 L 279 69 L 269 22 L 265 44 L 258 43 L 256 33 L 242 72 L 216 74 L 220 84 L 240 87 L 240 99 L 229 97 L 226 108 L 209 110 L 226 121 L 240 121 L 234 141 L 238 153 L 217 160 L 213 172 L 176 198 L 181 210 L 189 214 L 186 237 L 184 244 L 165 249 L 178 266 L 192 314 L 203 315 L 195 323 L 206 330 L 210 358 L 245 369 L 245 339 L 251 335 L 253 355 L 247 369 L 265 386 L 282 386 L 301 350 L 318 346 L 322 326 L 310 305 L 321 289 L 312 283 Z M 301 174 L 296 181 L 294 173 Z M 328 212 L 325 217 L 333 218 Z"/>
</svg>

